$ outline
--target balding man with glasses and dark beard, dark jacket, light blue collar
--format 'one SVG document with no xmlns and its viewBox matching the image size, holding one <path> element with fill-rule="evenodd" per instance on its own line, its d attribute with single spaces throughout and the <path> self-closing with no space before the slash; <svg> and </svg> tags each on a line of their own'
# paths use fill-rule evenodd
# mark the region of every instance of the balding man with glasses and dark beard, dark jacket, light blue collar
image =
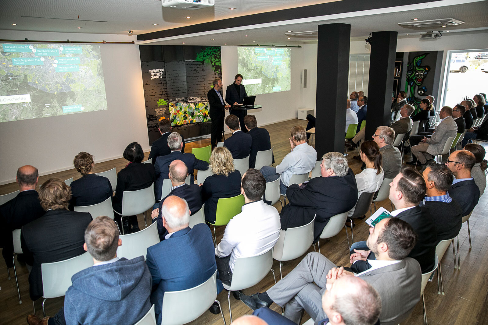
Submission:
<svg viewBox="0 0 488 325">
<path fill-rule="evenodd" d="M 480 190 L 471 176 L 471 169 L 475 162 L 474 154 L 467 150 L 455 151 L 446 160 L 447 167 L 456 177 L 448 192 L 463 209 L 463 216 L 474 209 L 480 198 Z"/>
</svg>

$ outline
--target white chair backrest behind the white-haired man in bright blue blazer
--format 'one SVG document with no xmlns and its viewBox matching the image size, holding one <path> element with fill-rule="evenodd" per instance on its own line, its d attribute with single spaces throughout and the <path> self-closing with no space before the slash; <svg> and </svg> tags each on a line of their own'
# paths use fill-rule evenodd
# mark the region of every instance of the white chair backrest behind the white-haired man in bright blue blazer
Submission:
<svg viewBox="0 0 488 325">
<path fill-rule="evenodd" d="M 217 270 L 201 285 L 186 290 L 166 291 L 161 309 L 161 325 L 189 323 L 212 306 L 216 298 Z"/>
</svg>

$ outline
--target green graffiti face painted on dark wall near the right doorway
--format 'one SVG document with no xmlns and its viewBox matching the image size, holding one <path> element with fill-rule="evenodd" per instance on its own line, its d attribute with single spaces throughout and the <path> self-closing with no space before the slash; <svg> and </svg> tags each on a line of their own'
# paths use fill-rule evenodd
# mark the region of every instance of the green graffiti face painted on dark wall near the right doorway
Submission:
<svg viewBox="0 0 488 325">
<path fill-rule="evenodd" d="M 428 65 L 422 66 L 422 59 L 427 55 L 428 53 L 424 53 L 414 57 L 407 67 L 405 92 L 407 93 L 407 102 L 415 107 L 414 114 L 420 111 L 420 100 L 425 98 L 427 93 L 427 87 L 423 86 L 423 83 L 430 67 Z"/>
</svg>

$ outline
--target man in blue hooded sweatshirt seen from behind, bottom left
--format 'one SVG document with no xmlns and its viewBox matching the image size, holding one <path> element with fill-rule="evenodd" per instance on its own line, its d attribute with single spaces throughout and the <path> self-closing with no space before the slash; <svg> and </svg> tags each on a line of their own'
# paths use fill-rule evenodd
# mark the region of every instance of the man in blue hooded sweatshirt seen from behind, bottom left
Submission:
<svg viewBox="0 0 488 325">
<path fill-rule="evenodd" d="M 107 216 L 96 218 L 84 237 L 83 249 L 93 257 L 93 267 L 73 275 L 64 308 L 54 317 L 29 315 L 30 325 L 133 325 L 150 309 L 151 273 L 143 256 L 117 257 L 122 239 L 114 221 Z"/>
</svg>

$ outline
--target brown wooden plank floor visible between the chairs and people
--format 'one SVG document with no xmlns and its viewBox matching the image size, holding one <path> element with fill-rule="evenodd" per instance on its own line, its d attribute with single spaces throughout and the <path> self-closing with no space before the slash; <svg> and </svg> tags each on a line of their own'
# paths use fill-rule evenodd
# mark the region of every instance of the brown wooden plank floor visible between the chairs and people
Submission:
<svg viewBox="0 0 488 325">
<path fill-rule="evenodd" d="M 280 163 L 283 157 L 289 153 L 290 147 L 288 142 L 289 129 L 294 125 L 306 125 L 305 120 L 290 120 L 273 125 L 268 125 L 265 128 L 269 131 L 271 136 L 271 145 L 274 146 L 274 156 L 276 164 Z M 193 141 L 186 143 L 185 151 L 191 152 L 191 148 L 203 147 L 210 144 L 210 139 Z M 121 148 L 121 152 L 124 148 Z M 86 150 L 87 148 L 80 148 Z M 350 151 L 348 155 L 349 166 L 354 173 L 360 172 L 361 163 L 352 159 L 356 151 Z M 147 157 L 149 153 L 145 153 Z M 409 160 L 407 155 L 407 160 Z M 120 171 L 127 162 L 121 159 L 115 159 L 99 163 L 95 166 L 97 172 L 103 172 L 116 167 L 117 172 Z M 74 177 L 79 178 L 80 175 L 75 169 L 58 172 L 51 175 L 41 176 L 39 183 L 44 182 L 49 177 L 60 177 L 68 179 Z M 18 190 L 17 185 L 6 184 L 0 186 L 0 194 L 9 193 Z M 384 206 L 387 210 L 391 210 L 388 199 L 381 202 L 380 206 Z M 281 210 L 281 205 L 275 205 L 275 208 Z M 459 246 L 461 250 L 461 269 L 454 269 L 452 247 L 447 249 L 444 258 L 442 259 L 442 273 L 444 279 L 445 295 L 439 295 L 437 292 L 437 275 L 434 276 L 433 282 L 428 283 L 425 289 L 425 301 L 427 306 L 428 322 L 431 325 L 435 324 L 488 324 L 488 196 L 483 195 L 476 208 L 474 209 L 471 218 L 469 219 L 469 226 L 471 229 L 472 249 L 469 249 L 468 243 L 468 226 L 463 224 L 459 234 Z M 144 228 L 142 214 L 138 216 L 139 225 Z M 349 229 L 350 230 L 350 229 Z M 217 240 L 220 241 L 224 234 L 224 227 L 217 229 Z M 368 234 L 368 226 L 364 221 L 356 221 L 354 227 L 355 241 L 366 240 Z M 349 231 L 350 236 L 350 231 Z M 350 240 L 350 238 L 349 238 Z M 309 251 L 313 251 L 310 248 Z M 346 240 L 346 231 L 343 229 L 338 235 L 329 240 L 321 241 L 321 252 L 331 261 L 340 266 L 349 265 L 348 246 Z M 301 260 L 298 258 L 294 261 L 285 262 L 283 265 L 283 275 L 290 272 Z M 17 298 L 17 287 L 13 268 L 10 269 L 12 280 L 7 279 L 6 265 L 3 259 L 0 262 L 0 325 L 1 324 L 27 324 L 25 317 L 33 313 L 32 302 L 29 299 L 29 284 L 28 271 L 25 264 L 17 262 L 17 275 L 19 277 L 20 293 L 22 296 L 22 304 L 19 304 Z M 275 270 L 277 280 L 279 280 L 280 271 L 279 263 L 274 261 L 273 269 Z M 274 284 L 273 276 L 269 273 L 258 285 L 245 289 L 244 293 L 252 294 L 255 292 L 263 292 Z M 227 304 L 227 292 L 223 291 L 217 298 L 224 311 L 227 324 L 230 324 L 229 307 Z M 49 299 L 46 301 L 46 314 L 53 315 L 63 304 L 63 298 Z M 232 306 L 233 319 L 250 314 L 250 310 L 242 302 L 235 300 L 232 295 L 230 297 L 230 304 Z M 280 311 L 280 308 L 273 304 L 272 309 Z M 41 300 L 36 302 L 36 310 L 38 315 L 42 315 Z M 119 311 L 122 312 L 122 311 Z M 305 314 L 302 322 L 305 322 L 309 316 Z M 213 315 L 205 312 L 200 318 L 191 324 L 194 325 L 221 325 L 222 317 L 220 315 Z M 410 317 L 403 324 L 423 324 L 422 302 L 420 301 L 413 310 Z"/>
</svg>

